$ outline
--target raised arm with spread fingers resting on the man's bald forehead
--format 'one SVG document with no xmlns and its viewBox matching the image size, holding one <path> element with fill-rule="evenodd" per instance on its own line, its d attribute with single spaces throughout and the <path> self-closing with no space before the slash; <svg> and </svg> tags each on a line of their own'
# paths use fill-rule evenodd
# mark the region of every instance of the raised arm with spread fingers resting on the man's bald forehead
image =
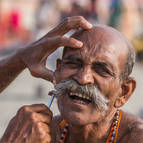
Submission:
<svg viewBox="0 0 143 143">
<path fill-rule="evenodd" d="M 64 36 L 69 30 L 78 28 L 91 29 L 92 25 L 81 16 L 68 17 L 40 40 L 1 60 L 0 92 L 25 68 L 28 68 L 33 76 L 55 83 L 54 73 L 45 67 L 46 59 L 60 46 L 82 47 L 82 42 Z"/>
</svg>

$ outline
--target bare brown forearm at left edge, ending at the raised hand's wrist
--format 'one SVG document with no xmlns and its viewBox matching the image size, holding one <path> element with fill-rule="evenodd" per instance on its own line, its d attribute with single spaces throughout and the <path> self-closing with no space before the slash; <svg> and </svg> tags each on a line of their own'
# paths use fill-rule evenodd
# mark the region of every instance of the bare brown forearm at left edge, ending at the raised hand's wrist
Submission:
<svg viewBox="0 0 143 143">
<path fill-rule="evenodd" d="M 25 69 L 18 52 L 0 60 L 0 92 L 2 92 Z"/>
</svg>

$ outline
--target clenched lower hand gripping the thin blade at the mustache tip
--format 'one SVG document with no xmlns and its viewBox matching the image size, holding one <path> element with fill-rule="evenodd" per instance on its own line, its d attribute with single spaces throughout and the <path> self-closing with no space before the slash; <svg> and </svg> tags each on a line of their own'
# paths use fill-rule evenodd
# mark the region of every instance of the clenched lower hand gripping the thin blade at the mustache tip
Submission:
<svg viewBox="0 0 143 143">
<path fill-rule="evenodd" d="M 52 112 L 44 104 L 22 107 L 10 121 L 0 143 L 50 143 Z"/>
</svg>

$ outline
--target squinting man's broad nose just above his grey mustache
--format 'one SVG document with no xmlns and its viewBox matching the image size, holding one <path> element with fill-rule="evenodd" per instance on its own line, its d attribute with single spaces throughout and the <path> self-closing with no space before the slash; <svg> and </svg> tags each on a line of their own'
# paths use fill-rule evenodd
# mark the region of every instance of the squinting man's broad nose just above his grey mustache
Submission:
<svg viewBox="0 0 143 143">
<path fill-rule="evenodd" d="M 94 77 L 90 65 L 80 69 L 78 73 L 73 76 L 73 78 L 79 84 L 94 84 Z"/>
</svg>

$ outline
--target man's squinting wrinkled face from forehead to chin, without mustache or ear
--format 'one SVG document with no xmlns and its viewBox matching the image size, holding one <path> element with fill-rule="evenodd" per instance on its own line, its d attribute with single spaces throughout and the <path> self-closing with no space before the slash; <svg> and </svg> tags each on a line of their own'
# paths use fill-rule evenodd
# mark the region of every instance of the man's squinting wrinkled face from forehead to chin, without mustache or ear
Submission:
<svg viewBox="0 0 143 143">
<path fill-rule="evenodd" d="M 85 31 L 78 37 L 75 36 L 84 43 L 83 48 L 67 48 L 55 75 L 58 83 L 72 78 L 80 86 L 96 86 L 109 100 L 107 111 L 109 112 L 114 108 L 116 97 L 121 94 L 120 69 L 126 57 L 121 47 L 125 45 L 121 45 L 120 40 L 118 43 L 118 40 L 108 37 L 106 32 L 103 34 L 97 30 L 95 35 L 92 34 L 94 33 Z M 70 96 L 71 92 L 75 97 Z M 58 98 L 62 117 L 77 125 L 101 121 L 103 119 L 101 111 L 93 102 L 82 101 L 82 98 L 76 97 L 79 93 L 77 89 L 67 90 Z"/>
</svg>

